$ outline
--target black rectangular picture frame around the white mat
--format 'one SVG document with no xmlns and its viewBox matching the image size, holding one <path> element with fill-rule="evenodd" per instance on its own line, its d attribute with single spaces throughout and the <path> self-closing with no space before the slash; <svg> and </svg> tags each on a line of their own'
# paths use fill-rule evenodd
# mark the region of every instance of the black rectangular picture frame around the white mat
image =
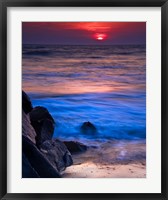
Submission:
<svg viewBox="0 0 168 200">
<path fill-rule="evenodd" d="M 7 191 L 7 8 L 161 7 L 161 193 L 21 194 Z M 0 1 L 0 198 L 1 199 L 168 199 L 168 0 L 1 0 Z"/>
</svg>

